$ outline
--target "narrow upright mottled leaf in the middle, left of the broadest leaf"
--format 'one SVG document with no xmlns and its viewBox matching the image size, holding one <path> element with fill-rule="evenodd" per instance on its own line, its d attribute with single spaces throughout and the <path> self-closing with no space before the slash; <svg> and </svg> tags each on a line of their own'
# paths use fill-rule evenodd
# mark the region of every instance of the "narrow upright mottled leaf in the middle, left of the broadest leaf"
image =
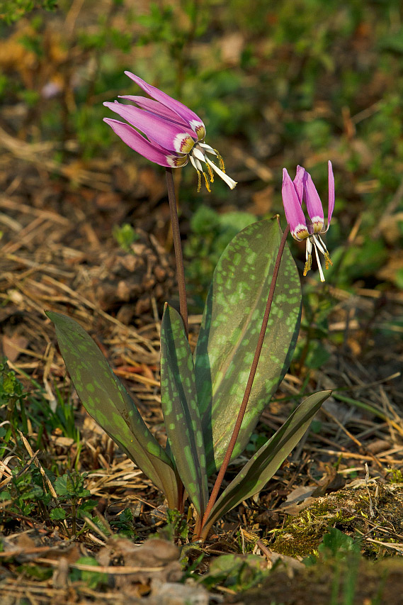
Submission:
<svg viewBox="0 0 403 605">
<path fill-rule="evenodd" d="M 161 405 L 179 477 L 196 511 L 203 516 L 208 477 L 193 356 L 182 318 L 168 304 L 161 322 Z"/>
</svg>

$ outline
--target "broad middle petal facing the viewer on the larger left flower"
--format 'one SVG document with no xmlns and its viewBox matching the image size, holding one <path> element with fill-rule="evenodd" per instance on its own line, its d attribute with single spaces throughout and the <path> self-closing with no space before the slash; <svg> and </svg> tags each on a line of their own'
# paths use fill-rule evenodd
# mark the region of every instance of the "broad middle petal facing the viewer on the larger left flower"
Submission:
<svg viewBox="0 0 403 605">
<path fill-rule="evenodd" d="M 127 122 L 138 128 L 149 138 L 157 141 L 159 145 L 169 151 L 188 153 L 194 145 L 195 133 L 190 128 L 183 128 L 180 124 L 155 116 L 154 113 L 143 111 L 132 105 L 104 103 L 106 107 L 118 113 Z"/>
</svg>

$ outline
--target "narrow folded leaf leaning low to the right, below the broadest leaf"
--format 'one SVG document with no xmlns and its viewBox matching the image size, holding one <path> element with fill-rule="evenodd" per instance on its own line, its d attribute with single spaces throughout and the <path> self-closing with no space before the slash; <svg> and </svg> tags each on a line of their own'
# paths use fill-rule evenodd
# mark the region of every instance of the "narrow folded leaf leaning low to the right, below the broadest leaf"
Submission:
<svg viewBox="0 0 403 605">
<path fill-rule="evenodd" d="M 202 535 L 207 535 L 212 523 L 218 518 L 263 489 L 300 441 L 315 413 L 330 394 L 331 391 L 321 391 L 307 397 L 283 426 L 251 457 L 212 507 Z"/>
</svg>

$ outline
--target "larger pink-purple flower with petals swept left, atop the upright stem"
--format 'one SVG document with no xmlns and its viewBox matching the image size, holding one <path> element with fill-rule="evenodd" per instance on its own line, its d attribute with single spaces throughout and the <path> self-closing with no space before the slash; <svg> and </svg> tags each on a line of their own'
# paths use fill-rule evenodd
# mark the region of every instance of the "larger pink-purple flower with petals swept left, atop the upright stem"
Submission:
<svg viewBox="0 0 403 605">
<path fill-rule="evenodd" d="M 205 178 L 205 186 L 210 191 L 210 182 L 214 181 L 216 172 L 227 185 L 234 189 L 237 184 L 225 174 L 222 157 L 217 150 L 207 145 L 205 140 L 205 125 L 200 118 L 186 105 L 165 94 L 161 90 L 147 84 L 135 74 L 125 74 L 136 82 L 152 99 L 144 96 L 125 95 L 121 99 L 132 101 L 135 105 L 125 105 L 115 101 L 104 103 L 106 107 L 118 113 L 128 123 L 103 118 L 113 131 L 130 148 L 140 153 L 147 160 L 166 167 L 181 167 L 191 160 L 198 172 L 198 191 L 200 191 L 201 174 Z M 134 127 L 134 128 L 133 128 Z M 142 131 L 143 136 L 137 130 Z M 215 165 L 207 154 L 214 155 L 220 164 Z M 208 174 L 203 170 L 206 166 Z"/>
</svg>

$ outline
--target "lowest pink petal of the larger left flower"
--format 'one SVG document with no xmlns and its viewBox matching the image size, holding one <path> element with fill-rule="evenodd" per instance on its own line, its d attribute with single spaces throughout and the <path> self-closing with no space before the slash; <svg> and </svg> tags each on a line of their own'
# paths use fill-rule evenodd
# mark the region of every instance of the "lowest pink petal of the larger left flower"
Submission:
<svg viewBox="0 0 403 605">
<path fill-rule="evenodd" d="M 140 133 L 137 133 L 134 128 L 112 118 L 103 118 L 103 121 L 109 124 L 110 128 L 126 143 L 128 147 L 140 153 L 147 160 L 159 164 L 160 166 L 174 167 L 176 165 L 184 165 L 183 157 L 171 154 L 168 151 L 163 152 L 161 148 L 157 148 L 152 143 L 144 138 Z M 176 163 L 181 162 L 182 163 Z"/>
</svg>

